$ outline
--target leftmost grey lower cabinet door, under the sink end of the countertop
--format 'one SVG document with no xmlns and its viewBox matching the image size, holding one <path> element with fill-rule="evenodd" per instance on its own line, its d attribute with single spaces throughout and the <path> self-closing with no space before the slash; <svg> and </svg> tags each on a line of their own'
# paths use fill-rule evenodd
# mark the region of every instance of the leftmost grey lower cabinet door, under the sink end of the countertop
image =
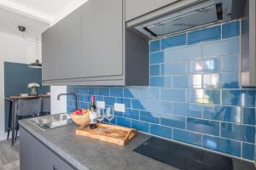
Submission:
<svg viewBox="0 0 256 170">
<path fill-rule="evenodd" d="M 32 170 L 32 136 L 20 127 L 20 170 Z"/>
</svg>

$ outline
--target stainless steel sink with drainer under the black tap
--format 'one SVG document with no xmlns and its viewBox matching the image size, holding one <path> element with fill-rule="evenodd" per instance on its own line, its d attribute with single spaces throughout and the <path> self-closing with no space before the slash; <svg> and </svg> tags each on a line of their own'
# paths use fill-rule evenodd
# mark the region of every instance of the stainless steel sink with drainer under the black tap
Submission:
<svg viewBox="0 0 256 170">
<path fill-rule="evenodd" d="M 71 116 L 68 113 L 60 113 L 49 116 L 38 116 L 28 119 L 36 126 L 46 130 L 55 127 L 62 127 L 73 123 Z"/>
</svg>

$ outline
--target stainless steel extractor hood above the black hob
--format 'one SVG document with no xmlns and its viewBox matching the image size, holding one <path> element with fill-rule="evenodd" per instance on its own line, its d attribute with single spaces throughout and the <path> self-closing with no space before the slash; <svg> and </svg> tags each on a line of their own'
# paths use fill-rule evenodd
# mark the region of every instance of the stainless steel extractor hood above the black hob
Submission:
<svg viewBox="0 0 256 170">
<path fill-rule="evenodd" d="M 234 16 L 240 16 L 237 14 L 240 2 L 241 0 L 199 1 L 168 14 L 153 17 L 153 19 L 133 27 L 151 39 L 163 37 L 173 32 L 217 21 L 232 20 Z"/>
</svg>

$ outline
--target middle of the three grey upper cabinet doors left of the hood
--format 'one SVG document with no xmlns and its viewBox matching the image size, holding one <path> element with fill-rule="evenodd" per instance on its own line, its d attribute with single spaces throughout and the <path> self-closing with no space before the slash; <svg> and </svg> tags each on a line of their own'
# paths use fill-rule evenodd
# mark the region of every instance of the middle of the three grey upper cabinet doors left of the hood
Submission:
<svg viewBox="0 0 256 170">
<path fill-rule="evenodd" d="M 81 69 L 81 8 L 58 23 L 59 78 L 74 78 Z"/>
</svg>

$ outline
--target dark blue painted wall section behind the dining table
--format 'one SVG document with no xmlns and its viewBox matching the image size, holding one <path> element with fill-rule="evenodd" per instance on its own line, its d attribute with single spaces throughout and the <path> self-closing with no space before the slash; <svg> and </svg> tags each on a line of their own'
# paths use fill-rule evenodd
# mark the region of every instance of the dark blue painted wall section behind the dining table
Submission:
<svg viewBox="0 0 256 170">
<path fill-rule="evenodd" d="M 29 94 L 27 84 L 38 82 L 38 94 L 49 92 L 49 86 L 42 87 L 42 69 L 30 68 L 26 64 L 4 62 L 4 96 Z M 5 100 L 5 131 L 8 127 L 9 101 Z"/>
</svg>

